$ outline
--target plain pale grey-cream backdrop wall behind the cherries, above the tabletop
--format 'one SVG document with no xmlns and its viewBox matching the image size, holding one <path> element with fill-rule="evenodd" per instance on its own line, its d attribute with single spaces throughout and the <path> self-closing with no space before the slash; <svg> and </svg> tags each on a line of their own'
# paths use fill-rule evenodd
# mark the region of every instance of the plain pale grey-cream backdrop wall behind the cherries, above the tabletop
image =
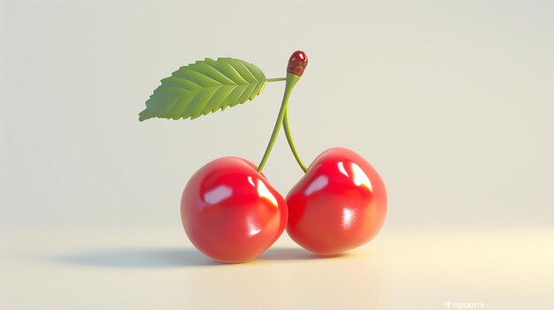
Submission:
<svg viewBox="0 0 554 310">
<path fill-rule="evenodd" d="M 181 65 L 238 57 L 284 76 L 310 163 L 350 147 L 389 189 L 388 229 L 554 223 L 550 1 L 2 1 L 0 225 L 181 225 L 187 180 L 258 163 L 282 83 L 194 121 L 138 122 Z M 282 133 L 282 132 L 281 132 Z M 301 170 L 280 136 L 265 168 Z"/>
</svg>

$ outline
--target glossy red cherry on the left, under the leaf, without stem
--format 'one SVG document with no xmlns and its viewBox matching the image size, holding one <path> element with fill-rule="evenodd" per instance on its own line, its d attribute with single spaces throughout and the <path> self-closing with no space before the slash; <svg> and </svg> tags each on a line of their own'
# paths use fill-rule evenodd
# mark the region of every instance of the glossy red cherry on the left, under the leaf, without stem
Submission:
<svg viewBox="0 0 554 310">
<path fill-rule="evenodd" d="M 287 205 L 281 194 L 239 157 L 222 157 L 198 170 L 181 197 L 190 241 L 216 261 L 251 261 L 281 236 Z"/>
</svg>

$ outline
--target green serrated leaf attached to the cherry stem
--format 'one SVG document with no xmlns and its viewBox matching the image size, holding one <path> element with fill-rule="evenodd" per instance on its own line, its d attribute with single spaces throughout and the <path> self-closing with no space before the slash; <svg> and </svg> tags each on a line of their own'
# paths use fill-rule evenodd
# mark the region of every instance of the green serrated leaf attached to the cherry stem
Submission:
<svg viewBox="0 0 554 310">
<path fill-rule="evenodd" d="M 264 89 L 264 72 L 235 58 L 205 58 L 161 80 L 139 120 L 191 118 L 252 100 Z"/>
</svg>

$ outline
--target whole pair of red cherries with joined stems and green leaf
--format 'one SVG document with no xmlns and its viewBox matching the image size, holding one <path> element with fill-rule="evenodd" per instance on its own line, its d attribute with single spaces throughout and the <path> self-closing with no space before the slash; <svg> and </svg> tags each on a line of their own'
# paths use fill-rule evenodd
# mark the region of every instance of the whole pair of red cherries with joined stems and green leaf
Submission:
<svg viewBox="0 0 554 310">
<path fill-rule="evenodd" d="M 364 245 L 380 231 L 387 213 L 381 177 L 365 159 L 335 147 L 306 168 L 292 138 L 289 97 L 308 64 L 296 50 L 285 78 L 266 79 L 254 64 L 210 58 L 182 66 L 146 102 L 139 120 L 191 118 L 253 100 L 267 82 L 285 81 L 281 107 L 265 153 L 256 166 L 239 157 L 221 157 L 189 179 L 181 196 L 181 221 L 190 241 L 215 261 L 254 260 L 287 229 L 300 246 L 335 255 Z M 305 172 L 283 199 L 261 173 L 284 128 L 296 163 Z"/>
</svg>

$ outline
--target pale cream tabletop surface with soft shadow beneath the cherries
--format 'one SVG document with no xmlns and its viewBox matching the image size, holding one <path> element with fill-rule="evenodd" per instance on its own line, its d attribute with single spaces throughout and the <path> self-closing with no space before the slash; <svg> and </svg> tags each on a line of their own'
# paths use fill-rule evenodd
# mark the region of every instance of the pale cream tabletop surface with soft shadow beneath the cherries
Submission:
<svg viewBox="0 0 554 310">
<path fill-rule="evenodd" d="M 386 225 L 331 258 L 283 234 L 246 264 L 212 261 L 180 226 L 0 227 L 0 309 L 554 309 L 551 226 Z"/>
</svg>

